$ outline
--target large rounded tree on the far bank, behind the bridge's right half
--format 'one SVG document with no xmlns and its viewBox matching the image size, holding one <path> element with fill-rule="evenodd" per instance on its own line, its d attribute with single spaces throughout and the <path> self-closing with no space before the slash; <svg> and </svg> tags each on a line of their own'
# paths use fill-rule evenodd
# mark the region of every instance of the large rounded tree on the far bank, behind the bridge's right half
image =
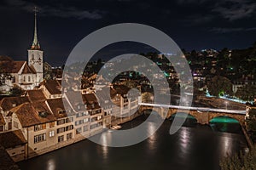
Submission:
<svg viewBox="0 0 256 170">
<path fill-rule="evenodd" d="M 209 94 L 215 97 L 220 95 L 232 94 L 232 83 L 227 77 L 215 76 L 207 82 L 207 89 Z"/>
</svg>

